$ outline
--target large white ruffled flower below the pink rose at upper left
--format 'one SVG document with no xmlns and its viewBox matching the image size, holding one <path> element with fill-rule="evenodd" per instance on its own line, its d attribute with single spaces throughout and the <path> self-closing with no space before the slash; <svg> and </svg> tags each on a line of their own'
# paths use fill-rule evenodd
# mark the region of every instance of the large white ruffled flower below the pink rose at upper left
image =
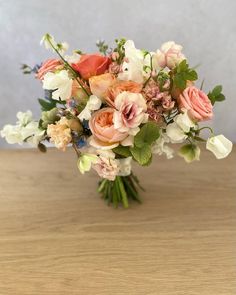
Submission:
<svg viewBox="0 0 236 295">
<path fill-rule="evenodd" d="M 73 80 L 68 72 L 62 70 L 57 73 L 48 72 L 43 78 L 43 89 L 54 90 L 52 98 L 56 100 L 66 100 L 71 96 Z"/>
</svg>

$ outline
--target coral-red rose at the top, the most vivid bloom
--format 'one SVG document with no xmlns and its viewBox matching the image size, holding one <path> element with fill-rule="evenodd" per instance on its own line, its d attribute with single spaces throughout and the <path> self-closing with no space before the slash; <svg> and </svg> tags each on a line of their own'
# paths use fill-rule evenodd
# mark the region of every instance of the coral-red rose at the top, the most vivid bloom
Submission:
<svg viewBox="0 0 236 295">
<path fill-rule="evenodd" d="M 81 77 L 88 80 L 92 76 L 104 74 L 109 68 L 111 60 L 107 56 L 100 54 L 83 54 L 78 63 L 72 63 L 72 68 Z"/>
</svg>

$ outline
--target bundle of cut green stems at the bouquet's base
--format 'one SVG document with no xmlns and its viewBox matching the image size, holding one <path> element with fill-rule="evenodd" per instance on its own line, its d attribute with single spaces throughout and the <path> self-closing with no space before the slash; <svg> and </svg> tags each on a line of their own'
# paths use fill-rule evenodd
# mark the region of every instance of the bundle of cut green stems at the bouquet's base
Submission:
<svg viewBox="0 0 236 295">
<path fill-rule="evenodd" d="M 115 208 L 122 204 L 124 208 L 129 207 L 129 199 L 141 203 L 138 193 L 139 181 L 136 176 L 116 176 L 114 181 L 103 179 L 99 182 L 98 192 L 107 204 L 113 204 Z"/>
</svg>

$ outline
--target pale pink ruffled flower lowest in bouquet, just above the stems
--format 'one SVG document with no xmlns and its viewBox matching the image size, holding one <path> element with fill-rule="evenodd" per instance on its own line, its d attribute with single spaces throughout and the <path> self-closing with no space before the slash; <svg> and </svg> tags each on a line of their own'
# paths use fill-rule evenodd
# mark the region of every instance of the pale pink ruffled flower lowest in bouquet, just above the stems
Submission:
<svg viewBox="0 0 236 295">
<path fill-rule="evenodd" d="M 100 156 L 92 167 L 100 177 L 111 181 L 115 180 L 120 169 L 118 160 L 104 156 Z"/>
</svg>

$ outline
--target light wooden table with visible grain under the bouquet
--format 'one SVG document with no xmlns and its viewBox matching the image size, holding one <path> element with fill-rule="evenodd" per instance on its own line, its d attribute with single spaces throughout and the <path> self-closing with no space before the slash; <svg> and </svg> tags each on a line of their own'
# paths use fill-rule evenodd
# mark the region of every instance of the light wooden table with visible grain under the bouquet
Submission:
<svg viewBox="0 0 236 295">
<path fill-rule="evenodd" d="M 107 207 L 75 155 L 0 151 L 0 294 L 235 295 L 236 151 L 135 172 L 143 204 Z"/>
</svg>

